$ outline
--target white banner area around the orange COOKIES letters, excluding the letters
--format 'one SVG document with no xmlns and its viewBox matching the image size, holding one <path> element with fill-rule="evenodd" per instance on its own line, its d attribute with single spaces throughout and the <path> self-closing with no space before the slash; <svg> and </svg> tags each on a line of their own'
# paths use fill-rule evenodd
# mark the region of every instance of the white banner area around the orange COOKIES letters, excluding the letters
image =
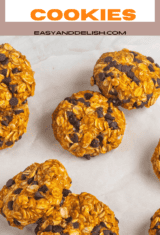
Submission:
<svg viewBox="0 0 160 235">
<path fill-rule="evenodd" d="M 60 9 L 64 12 L 67 9 L 87 9 L 87 12 L 92 9 L 121 9 L 121 12 L 125 9 L 134 9 L 136 11 L 136 22 L 154 22 L 155 21 L 155 0 L 6 0 L 5 8 L 5 21 L 6 22 L 33 22 L 30 17 L 30 13 L 34 9 L 43 9 L 46 12 L 50 9 Z M 107 10 L 106 10 L 107 12 Z M 106 13 L 107 14 L 107 13 Z M 42 14 L 44 15 L 44 14 Z M 100 19 L 100 11 L 93 14 Z M 37 15 L 39 17 L 39 15 Z M 56 15 L 54 15 L 55 17 Z M 122 16 L 122 14 L 120 14 Z M 72 16 L 73 17 L 73 16 Z M 107 17 L 106 17 L 107 19 Z M 52 22 L 47 17 L 45 22 Z M 60 20 L 65 22 L 63 18 Z M 87 18 L 86 21 L 92 21 Z M 41 21 L 40 21 L 41 22 Z M 76 22 L 80 22 L 77 20 Z M 92 21 L 94 22 L 94 21 Z M 98 22 L 98 21 L 97 21 Z M 100 21 L 99 21 L 100 22 Z M 111 22 L 111 21 L 110 21 Z M 121 21 L 117 21 L 121 22 Z M 123 20 L 123 22 L 126 22 Z"/>
</svg>

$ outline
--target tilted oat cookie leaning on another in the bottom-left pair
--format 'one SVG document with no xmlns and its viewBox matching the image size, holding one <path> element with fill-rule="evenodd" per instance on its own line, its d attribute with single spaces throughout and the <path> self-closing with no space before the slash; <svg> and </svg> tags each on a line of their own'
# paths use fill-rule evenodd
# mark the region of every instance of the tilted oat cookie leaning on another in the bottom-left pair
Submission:
<svg viewBox="0 0 160 235">
<path fill-rule="evenodd" d="M 58 160 L 34 163 L 8 180 L 0 191 L 0 212 L 9 225 L 23 229 L 49 216 L 70 192 L 71 179 Z"/>
</svg>

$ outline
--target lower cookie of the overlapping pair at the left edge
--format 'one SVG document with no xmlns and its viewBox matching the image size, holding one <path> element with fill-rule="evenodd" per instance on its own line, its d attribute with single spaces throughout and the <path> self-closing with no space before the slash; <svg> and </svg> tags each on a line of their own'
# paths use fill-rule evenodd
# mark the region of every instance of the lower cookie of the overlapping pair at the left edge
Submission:
<svg viewBox="0 0 160 235">
<path fill-rule="evenodd" d="M 11 147 L 27 131 L 28 103 L 18 108 L 0 110 L 0 150 Z"/>
</svg>

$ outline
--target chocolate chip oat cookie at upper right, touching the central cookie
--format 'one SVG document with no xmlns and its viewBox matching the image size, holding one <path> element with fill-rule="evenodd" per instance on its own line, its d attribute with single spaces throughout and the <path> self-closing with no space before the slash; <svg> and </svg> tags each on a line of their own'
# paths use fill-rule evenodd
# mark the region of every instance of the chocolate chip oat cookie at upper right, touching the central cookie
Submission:
<svg viewBox="0 0 160 235">
<path fill-rule="evenodd" d="M 128 49 L 104 53 L 94 67 L 94 84 L 114 105 L 150 107 L 160 95 L 160 67 L 153 58 Z"/>
</svg>

